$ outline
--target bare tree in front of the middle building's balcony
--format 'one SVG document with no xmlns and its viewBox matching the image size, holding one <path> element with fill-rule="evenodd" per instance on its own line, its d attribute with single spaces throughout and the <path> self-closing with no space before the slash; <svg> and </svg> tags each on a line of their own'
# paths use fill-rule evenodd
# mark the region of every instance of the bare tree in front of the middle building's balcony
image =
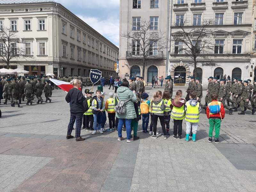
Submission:
<svg viewBox="0 0 256 192">
<path fill-rule="evenodd" d="M 157 32 L 152 21 L 133 21 L 132 29 L 121 34 L 127 41 L 126 58 L 130 58 L 133 64 L 142 66 L 142 76 L 145 74 L 147 63 L 152 63 L 153 58 L 163 58 L 163 50 L 166 49 L 166 36 L 161 30 Z M 158 29 L 158 27 L 157 27 Z"/>
</svg>

